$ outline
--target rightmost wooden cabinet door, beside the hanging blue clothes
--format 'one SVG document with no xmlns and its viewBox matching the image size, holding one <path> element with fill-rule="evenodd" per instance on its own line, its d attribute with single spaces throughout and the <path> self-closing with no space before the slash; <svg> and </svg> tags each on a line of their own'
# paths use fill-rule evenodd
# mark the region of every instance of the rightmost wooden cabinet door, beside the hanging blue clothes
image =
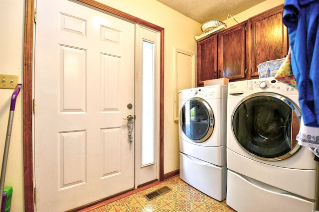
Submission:
<svg viewBox="0 0 319 212">
<path fill-rule="evenodd" d="M 250 79 L 258 78 L 257 66 L 260 63 L 287 55 L 287 27 L 282 18 L 283 5 L 280 5 L 249 19 L 252 41 Z"/>
</svg>

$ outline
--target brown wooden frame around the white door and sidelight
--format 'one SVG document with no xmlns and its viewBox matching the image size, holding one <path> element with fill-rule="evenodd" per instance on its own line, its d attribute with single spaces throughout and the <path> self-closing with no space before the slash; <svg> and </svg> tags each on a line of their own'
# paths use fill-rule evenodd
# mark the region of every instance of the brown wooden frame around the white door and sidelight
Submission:
<svg viewBox="0 0 319 212">
<path fill-rule="evenodd" d="M 164 28 L 157 26 L 118 9 L 95 0 L 78 0 L 86 5 L 123 17 L 135 23 L 160 32 L 160 181 L 164 180 L 163 166 L 163 110 L 164 110 Z M 33 31 L 34 0 L 25 0 L 24 11 L 24 49 L 23 49 L 23 165 L 24 165 L 24 207 L 25 212 L 34 211 L 33 191 Z"/>
</svg>

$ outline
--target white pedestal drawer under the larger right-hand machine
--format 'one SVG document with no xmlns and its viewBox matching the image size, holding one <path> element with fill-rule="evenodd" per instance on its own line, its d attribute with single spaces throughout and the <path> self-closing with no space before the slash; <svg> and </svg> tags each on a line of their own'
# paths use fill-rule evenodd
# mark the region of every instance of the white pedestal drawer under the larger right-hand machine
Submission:
<svg viewBox="0 0 319 212">
<path fill-rule="evenodd" d="M 315 203 L 228 170 L 227 205 L 238 212 L 312 212 Z"/>
</svg>

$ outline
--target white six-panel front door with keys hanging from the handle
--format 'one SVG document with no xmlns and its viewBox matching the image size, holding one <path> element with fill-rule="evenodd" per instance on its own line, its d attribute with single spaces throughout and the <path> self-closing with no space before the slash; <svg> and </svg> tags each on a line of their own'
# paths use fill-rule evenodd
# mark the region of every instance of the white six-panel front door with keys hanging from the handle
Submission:
<svg viewBox="0 0 319 212">
<path fill-rule="evenodd" d="M 135 25 L 69 0 L 36 8 L 36 210 L 133 189 L 134 139 L 123 118 L 135 110 Z"/>
</svg>

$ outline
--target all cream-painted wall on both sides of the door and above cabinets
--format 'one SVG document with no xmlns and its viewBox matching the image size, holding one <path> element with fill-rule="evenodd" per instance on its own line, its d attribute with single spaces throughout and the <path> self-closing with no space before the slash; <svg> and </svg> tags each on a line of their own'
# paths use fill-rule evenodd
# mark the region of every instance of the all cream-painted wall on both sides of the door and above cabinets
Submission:
<svg viewBox="0 0 319 212">
<path fill-rule="evenodd" d="M 196 53 L 195 35 L 201 34 L 200 24 L 164 6 L 156 0 L 98 0 L 126 13 L 165 28 L 164 37 L 164 174 L 179 169 L 178 125 L 174 121 L 174 48 Z M 266 0 L 260 6 L 234 16 L 241 22 L 259 12 L 283 3 Z M 235 24 L 235 23 L 234 23 Z M 228 27 L 231 20 L 228 21 Z M 24 1 L 0 2 L 0 74 L 18 75 L 23 79 Z M 0 161 L 4 147 L 13 90 L 0 89 Z M 6 170 L 5 186 L 13 186 L 11 212 L 24 211 L 22 95 L 16 102 Z"/>
</svg>

